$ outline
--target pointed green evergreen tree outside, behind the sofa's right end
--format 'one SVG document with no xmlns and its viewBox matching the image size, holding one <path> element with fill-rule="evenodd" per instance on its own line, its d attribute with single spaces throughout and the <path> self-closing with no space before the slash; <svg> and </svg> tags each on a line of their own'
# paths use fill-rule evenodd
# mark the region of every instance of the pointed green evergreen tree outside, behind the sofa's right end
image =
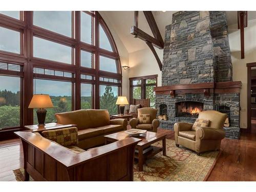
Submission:
<svg viewBox="0 0 256 192">
<path fill-rule="evenodd" d="M 117 97 L 114 96 L 111 86 L 106 86 L 105 92 L 100 97 L 100 109 L 108 110 L 110 115 L 117 114 Z"/>
</svg>

